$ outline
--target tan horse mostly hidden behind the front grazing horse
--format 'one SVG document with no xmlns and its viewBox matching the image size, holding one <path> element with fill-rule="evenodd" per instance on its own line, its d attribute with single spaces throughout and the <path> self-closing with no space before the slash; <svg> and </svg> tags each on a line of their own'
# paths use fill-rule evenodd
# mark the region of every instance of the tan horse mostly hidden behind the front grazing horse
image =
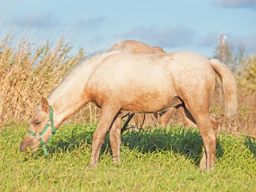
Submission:
<svg viewBox="0 0 256 192">
<path fill-rule="evenodd" d="M 114 46 L 110 47 L 110 50 L 122 50 L 130 54 L 164 54 L 166 51 L 162 50 L 160 46 L 153 46 L 152 48 L 144 42 L 138 42 L 134 40 L 118 41 Z M 168 111 L 163 111 L 156 114 L 135 114 L 134 124 L 137 127 L 145 127 L 150 123 L 154 126 L 161 125 L 166 126 L 170 120 L 170 115 L 173 113 L 174 107 Z M 128 118 L 130 121 L 130 118 Z M 193 122 L 190 119 L 184 117 L 188 126 L 193 126 Z M 128 120 L 127 120 L 128 121 Z M 125 127 L 124 127 L 125 128 Z"/>
</svg>

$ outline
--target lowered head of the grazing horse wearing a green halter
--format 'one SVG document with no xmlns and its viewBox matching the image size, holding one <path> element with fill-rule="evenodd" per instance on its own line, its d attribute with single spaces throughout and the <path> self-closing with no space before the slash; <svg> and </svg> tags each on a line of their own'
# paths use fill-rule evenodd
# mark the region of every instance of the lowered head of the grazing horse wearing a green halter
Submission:
<svg viewBox="0 0 256 192">
<path fill-rule="evenodd" d="M 29 133 L 26 134 L 20 144 L 20 150 L 26 152 L 26 147 L 30 146 L 32 152 L 38 150 L 38 147 L 44 145 L 51 137 L 52 131 L 50 125 L 53 124 L 52 110 L 46 100 L 42 98 L 42 105 L 34 110 L 34 116 L 30 124 Z M 48 128 L 49 127 L 49 128 Z M 54 128 L 55 131 L 55 128 Z"/>
</svg>

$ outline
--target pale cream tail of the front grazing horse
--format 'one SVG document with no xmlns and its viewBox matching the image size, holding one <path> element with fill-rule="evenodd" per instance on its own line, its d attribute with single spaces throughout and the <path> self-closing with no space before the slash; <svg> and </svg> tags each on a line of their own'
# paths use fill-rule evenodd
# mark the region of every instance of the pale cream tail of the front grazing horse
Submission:
<svg viewBox="0 0 256 192">
<path fill-rule="evenodd" d="M 234 76 L 226 64 L 219 62 L 217 59 L 211 59 L 210 64 L 222 80 L 226 115 L 231 117 L 237 114 L 238 110 L 237 86 Z"/>
</svg>

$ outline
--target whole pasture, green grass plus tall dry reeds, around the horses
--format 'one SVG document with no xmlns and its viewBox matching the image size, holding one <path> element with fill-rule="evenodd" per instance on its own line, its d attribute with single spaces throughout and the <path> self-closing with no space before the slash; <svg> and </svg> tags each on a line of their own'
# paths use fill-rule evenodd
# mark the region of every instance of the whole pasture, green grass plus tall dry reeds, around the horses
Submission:
<svg viewBox="0 0 256 192">
<path fill-rule="evenodd" d="M 103 143 L 98 168 L 88 167 L 99 110 L 86 105 L 70 117 L 36 154 L 23 154 L 19 144 L 26 135 L 34 107 L 48 97 L 84 53 L 70 54 L 63 40 L 56 46 L 34 47 L 21 39 L 11 46 L 0 43 L 0 191 L 254 191 L 256 187 L 256 54 L 235 72 L 238 115 L 227 119 L 214 96 L 212 117 L 222 122 L 214 171 L 202 171 L 203 154 L 197 129 L 177 126 L 122 134 L 121 164 L 112 162 L 110 138 Z M 251 72 L 253 71 L 253 73 Z M 19 122 L 19 123 L 18 123 Z M 85 123 L 87 122 L 87 123 Z M 246 135 L 251 135 L 246 136 Z"/>
</svg>

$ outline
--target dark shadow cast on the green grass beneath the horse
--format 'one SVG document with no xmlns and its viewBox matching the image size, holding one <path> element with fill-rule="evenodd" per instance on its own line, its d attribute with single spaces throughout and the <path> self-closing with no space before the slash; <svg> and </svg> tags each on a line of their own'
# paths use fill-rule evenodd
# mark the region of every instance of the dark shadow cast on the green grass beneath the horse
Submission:
<svg viewBox="0 0 256 192">
<path fill-rule="evenodd" d="M 71 133 L 66 130 L 66 136 L 57 135 L 56 139 L 47 146 L 50 154 L 72 151 L 79 147 L 91 147 L 94 127 L 74 126 Z M 156 127 L 146 130 L 128 130 L 122 134 L 122 145 L 138 153 L 146 154 L 158 151 L 170 151 L 184 155 L 199 164 L 203 153 L 201 134 L 197 129 L 187 129 L 182 126 Z M 102 153 L 111 153 L 110 136 L 106 135 L 102 145 Z M 222 157 L 223 150 L 217 142 L 216 158 Z M 42 153 L 40 155 L 43 155 Z"/>
</svg>

